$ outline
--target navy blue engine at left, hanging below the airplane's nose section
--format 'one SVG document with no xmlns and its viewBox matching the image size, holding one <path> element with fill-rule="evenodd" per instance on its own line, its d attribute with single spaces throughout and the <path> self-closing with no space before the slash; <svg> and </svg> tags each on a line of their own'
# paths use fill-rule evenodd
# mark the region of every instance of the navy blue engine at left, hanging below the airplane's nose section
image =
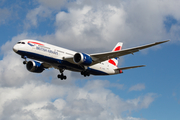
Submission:
<svg viewBox="0 0 180 120">
<path fill-rule="evenodd" d="M 28 61 L 26 64 L 27 70 L 34 73 L 42 73 L 44 71 L 44 67 L 41 63 L 36 61 Z"/>
</svg>

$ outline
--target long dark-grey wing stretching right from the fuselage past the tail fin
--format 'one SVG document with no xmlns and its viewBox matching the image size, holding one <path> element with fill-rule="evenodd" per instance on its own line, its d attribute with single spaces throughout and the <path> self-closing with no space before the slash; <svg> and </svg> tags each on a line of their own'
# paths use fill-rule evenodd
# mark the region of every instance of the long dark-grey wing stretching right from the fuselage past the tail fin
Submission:
<svg viewBox="0 0 180 120">
<path fill-rule="evenodd" d="M 116 58 L 116 57 L 124 56 L 127 54 L 133 54 L 135 52 L 138 52 L 139 50 L 149 48 L 149 47 L 152 47 L 155 45 L 159 45 L 159 44 L 162 44 L 162 43 L 165 43 L 168 41 L 169 40 L 165 40 L 165 41 L 161 41 L 161 42 L 155 42 L 152 44 L 147 44 L 147 45 L 138 46 L 138 47 L 129 48 L 129 49 L 123 49 L 120 51 L 90 54 L 91 58 L 93 59 L 93 63 L 91 65 L 103 62 L 103 61 L 111 59 L 111 58 Z"/>
</svg>

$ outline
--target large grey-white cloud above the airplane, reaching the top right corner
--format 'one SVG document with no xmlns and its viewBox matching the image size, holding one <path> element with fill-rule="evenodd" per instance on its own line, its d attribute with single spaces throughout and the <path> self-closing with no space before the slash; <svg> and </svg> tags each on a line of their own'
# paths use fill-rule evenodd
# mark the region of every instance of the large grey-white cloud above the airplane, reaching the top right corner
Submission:
<svg viewBox="0 0 180 120">
<path fill-rule="evenodd" d="M 112 4 L 108 1 L 97 1 L 97 4 L 83 0 L 71 2 L 68 12 L 60 11 L 56 15 L 55 33 L 40 38 L 88 53 L 111 50 L 119 41 L 124 42 L 123 48 L 127 48 L 173 39 L 176 36 L 171 31 L 179 31 L 179 27 L 173 26 L 167 33 L 164 25 L 168 15 L 178 19 L 177 14 L 171 14 L 175 11 L 175 8 L 171 8 L 172 4 L 176 3 L 150 0 L 114 0 Z"/>
</svg>

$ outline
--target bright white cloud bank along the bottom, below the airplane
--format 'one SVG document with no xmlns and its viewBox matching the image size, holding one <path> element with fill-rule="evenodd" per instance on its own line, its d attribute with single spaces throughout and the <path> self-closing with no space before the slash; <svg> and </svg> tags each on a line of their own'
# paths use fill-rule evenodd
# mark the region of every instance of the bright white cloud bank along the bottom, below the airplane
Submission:
<svg viewBox="0 0 180 120">
<path fill-rule="evenodd" d="M 155 98 L 154 94 L 146 94 L 124 101 L 104 88 L 104 83 L 106 81 L 89 81 L 79 88 L 75 84 L 66 87 L 33 81 L 19 88 L 1 87 L 0 119 L 136 120 L 138 118 L 124 118 L 121 114 L 147 108 Z"/>
</svg>

